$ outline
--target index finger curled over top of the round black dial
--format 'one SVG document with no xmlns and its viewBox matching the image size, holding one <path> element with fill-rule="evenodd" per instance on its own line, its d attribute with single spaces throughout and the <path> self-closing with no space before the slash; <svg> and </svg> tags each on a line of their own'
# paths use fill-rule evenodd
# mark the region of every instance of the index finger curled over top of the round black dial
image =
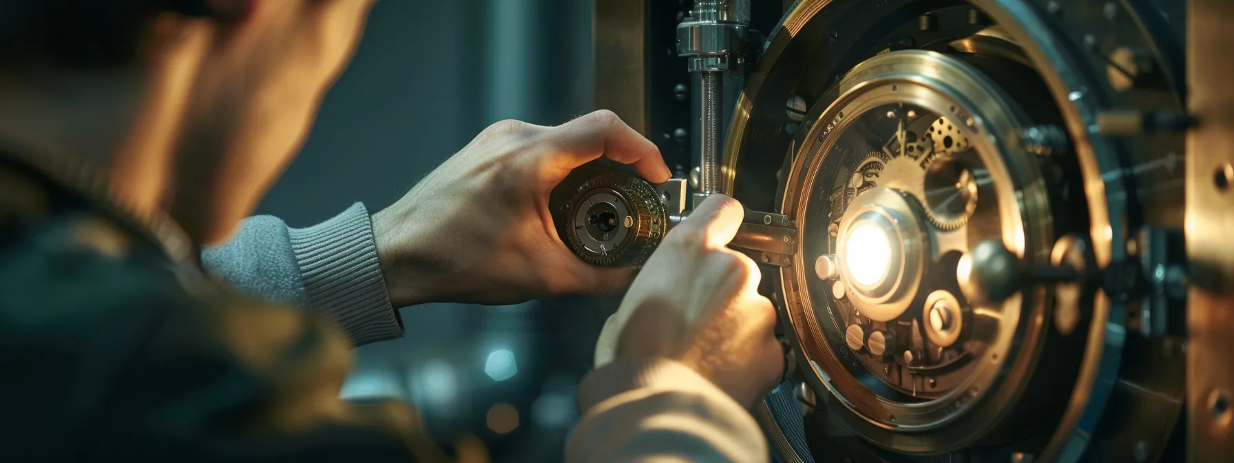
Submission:
<svg viewBox="0 0 1234 463">
<path fill-rule="evenodd" d="M 673 178 L 673 172 L 664 164 L 655 143 L 622 122 L 612 111 L 600 110 L 566 122 L 557 127 L 553 137 L 561 148 L 561 152 L 553 153 L 561 161 L 557 165 L 558 169 L 564 169 L 561 177 L 603 156 L 634 165 L 634 170 L 650 183 L 664 183 Z"/>
</svg>

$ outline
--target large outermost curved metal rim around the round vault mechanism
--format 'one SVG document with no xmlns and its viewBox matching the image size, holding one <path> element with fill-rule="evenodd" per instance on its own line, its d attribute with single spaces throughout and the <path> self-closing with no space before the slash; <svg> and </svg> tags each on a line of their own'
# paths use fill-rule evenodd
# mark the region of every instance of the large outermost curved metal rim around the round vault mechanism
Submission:
<svg viewBox="0 0 1234 463">
<path fill-rule="evenodd" d="M 750 95 L 759 94 L 766 73 L 770 70 L 768 64 L 774 63 L 785 52 L 789 43 L 807 22 L 837 2 L 842 2 L 842 0 L 800 1 L 785 16 L 782 26 L 777 27 L 769 38 L 759 69 L 740 95 L 731 125 L 722 172 L 724 191 L 733 189 L 742 140 L 754 105 Z M 1122 179 L 1112 179 L 1107 183 L 1101 175 L 1102 172 L 1119 169 L 1120 162 L 1109 142 L 1088 138 L 1087 127 L 1095 122 L 1099 107 L 1096 102 L 1090 101 L 1091 99 L 1083 98 L 1087 80 L 1082 75 L 1066 70 L 1069 67 L 1077 65 L 1080 59 L 1072 52 L 1060 49 L 1058 43 L 1049 40 L 1049 36 L 1033 35 L 1034 30 L 1045 31 L 1048 27 L 1027 1 L 969 0 L 969 2 L 1003 26 L 1008 35 L 1024 48 L 1030 63 L 1040 70 L 1055 102 L 1064 114 L 1067 131 L 1072 136 L 1080 159 L 1085 194 L 1088 201 L 1090 240 L 1093 243 L 1098 267 L 1106 267 L 1111 261 L 1125 258 L 1125 249 L 1122 246 L 1112 246 L 1112 243 L 1122 243 L 1128 237 L 1128 231 L 1123 225 L 1127 211 L 1119 202 L 1120 198 L 1127 194 L 1127 185 Z M 1074 91 L 1079 91 L 1080 98 L 1072 99 Z M 1117 378 L 1123 348 L 1120 335 L 1125 330 L 1122 322 L 1124 312 L 1125 309 L 1120 304 L 1112 304 L 1103 294 L 1098 294 L 1093 301 L 1093 320 L 1088 343 L 1083 351 L 1082 374 L 1077 379 L 1071 404 L 1067 406 L 1058 432 L 1046 446 L 1046 452 L 1041 454 L 1044 459 L 1071 458 L 1083 452 L 1087 436 L 1093 431 L 1091 423 L 1096 423 L 1104 412 L 1106 403 Z M 1090 425 L 1079 428 L 1081 419 Z"/>
</svg>

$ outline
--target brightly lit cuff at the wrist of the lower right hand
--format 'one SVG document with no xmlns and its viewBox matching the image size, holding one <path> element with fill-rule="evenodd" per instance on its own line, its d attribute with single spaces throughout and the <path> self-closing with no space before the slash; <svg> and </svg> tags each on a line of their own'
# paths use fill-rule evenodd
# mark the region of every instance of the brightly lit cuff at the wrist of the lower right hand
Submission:
<svg viewBox="0 0 1234 463">
<path fill-rule="evenodd" d="M 687 390 L 742 409 L 728 393 L 680 362 L 665 358 L 623 358 L 582 378 L 578 391 L 579 410 L 586 411 L 608 398 L 634 389 Z"/>
</svg>

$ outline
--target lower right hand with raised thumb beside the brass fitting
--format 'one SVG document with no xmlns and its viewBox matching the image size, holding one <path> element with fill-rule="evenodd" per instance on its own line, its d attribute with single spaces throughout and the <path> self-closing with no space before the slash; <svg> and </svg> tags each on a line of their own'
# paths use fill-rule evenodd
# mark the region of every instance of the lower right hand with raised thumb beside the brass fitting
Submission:
<svg viewBox="0 0 1234 463">
<path fill-rule="evenodd" d="M 742 205 L 711 195 L 664 237 L 596 346 L 596 368 L 615 358 L 679 361 L 747 407 L 784 374 L 775 310 L 758 294 L 758 265 L 726 248 Z"/>
</svg>

